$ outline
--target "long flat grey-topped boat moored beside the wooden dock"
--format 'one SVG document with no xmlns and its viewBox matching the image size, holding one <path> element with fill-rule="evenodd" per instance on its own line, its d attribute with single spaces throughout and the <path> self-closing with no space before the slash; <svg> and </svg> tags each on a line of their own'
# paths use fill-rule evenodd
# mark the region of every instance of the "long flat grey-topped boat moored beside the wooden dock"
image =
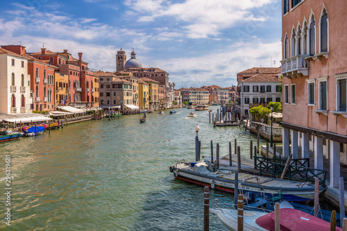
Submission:
<svg viewBox="0 0 347 231">
<path fill-rule="evenodd" d="M 174 177 L 197 185 L 204 185 L 212 189 L 234 192 L 235 171 L 217 169 L 214 164 L 205 161 L 180 162 L 170 166 Z M 215 166 L 214 166 L 215 168 Z M 314 198 L 314 185 L 307 182 L 294 180 L 281 180 L 266 176 L 253 176 L 248 173 L 238 173 L 239 189 L 257 194 L 260 192 L 264 197 L 282 196 L 282 200 L 307 201 Z M 319 193 L 325 190 L 319 187 Z"/>
</svg>

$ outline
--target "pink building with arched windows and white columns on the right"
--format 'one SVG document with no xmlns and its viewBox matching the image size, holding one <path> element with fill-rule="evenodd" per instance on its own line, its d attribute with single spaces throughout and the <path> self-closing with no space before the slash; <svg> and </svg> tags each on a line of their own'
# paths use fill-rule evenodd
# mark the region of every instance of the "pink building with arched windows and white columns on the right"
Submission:
<svg viewBox="0 0 347 231">
<path fill-rule="evenodd" d="M 329 160 L 330 187 L 347 164 L 345 10 L 345 0 L 282 0 L 283 154 L 313 151 L 315 169 Z"/>
</svg>

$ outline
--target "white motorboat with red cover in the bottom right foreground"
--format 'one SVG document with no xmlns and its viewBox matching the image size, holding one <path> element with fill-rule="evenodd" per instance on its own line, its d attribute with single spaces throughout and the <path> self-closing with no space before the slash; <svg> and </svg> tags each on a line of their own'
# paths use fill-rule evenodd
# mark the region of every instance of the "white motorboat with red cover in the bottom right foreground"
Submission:
<svg viewBox="0 0 347 231">
<path fill-rule="evenodd" d="M 322 219 L 302 212 L 293 207 L 280 204 L 280 230 L 330 230 L 330 223 Z M 237 209 L 210 209 L 229 230 L 237 230 Z M 250 230 L 274 230 L 275 212 L 267 210 L 259 211 L 252 207 L 244 206 L 244 231 Z M 336 227 L 336 230 L 342 230 Z"/>
</svg>

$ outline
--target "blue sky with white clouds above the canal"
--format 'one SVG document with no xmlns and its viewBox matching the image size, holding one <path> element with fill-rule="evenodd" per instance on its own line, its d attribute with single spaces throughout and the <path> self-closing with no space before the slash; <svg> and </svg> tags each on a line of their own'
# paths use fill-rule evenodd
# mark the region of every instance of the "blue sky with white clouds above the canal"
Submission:
<svg viewBox="0 0 347 231">
<path fill-rule="evenodd" d="M 90 69 L 115 71 L 117 51 L 134 49 L 180 87 L 237 85 L 251 67 L 280 67 L 278 0 L 26 0 L 0 8 L 0 45 L 28 53 L 83 52 Z"/>
</svg>

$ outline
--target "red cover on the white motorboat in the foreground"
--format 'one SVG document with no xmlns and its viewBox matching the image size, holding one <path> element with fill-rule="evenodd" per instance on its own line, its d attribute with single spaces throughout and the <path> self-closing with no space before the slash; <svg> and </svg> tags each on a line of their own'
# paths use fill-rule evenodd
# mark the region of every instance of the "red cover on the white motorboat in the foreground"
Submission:
<svg viewBox="0 0 347 231">
<path fill-rule="evenodd" d="M 275 212 L 260 216 L 256 221 L 266 230 L 275 230 Z M 330 230 L 330 223 L 297 209 L 280 209 L 280 225 L 282 231 L 289 230 Z M 342 230 L 337 227 L 336 230 Z"/>
</svg>

